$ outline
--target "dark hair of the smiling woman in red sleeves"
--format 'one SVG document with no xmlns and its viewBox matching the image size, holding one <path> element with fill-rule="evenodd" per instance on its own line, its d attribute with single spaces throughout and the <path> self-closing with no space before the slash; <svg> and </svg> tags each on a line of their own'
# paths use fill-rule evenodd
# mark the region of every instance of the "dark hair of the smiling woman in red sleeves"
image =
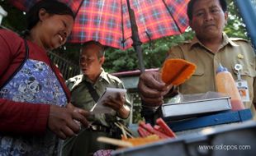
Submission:
<svg viewBox="0 0 256 156">
<path fill-rule="evenodd" d="M 55 0 L 42 0 L 37 2 L 27 13 L 27 30 L 31 30 L 39 19 L 40 9 L 45 9 L 50 15 L 70 15 L 74 19 L 73 11 L 63 2 Z"/>
</svg>

